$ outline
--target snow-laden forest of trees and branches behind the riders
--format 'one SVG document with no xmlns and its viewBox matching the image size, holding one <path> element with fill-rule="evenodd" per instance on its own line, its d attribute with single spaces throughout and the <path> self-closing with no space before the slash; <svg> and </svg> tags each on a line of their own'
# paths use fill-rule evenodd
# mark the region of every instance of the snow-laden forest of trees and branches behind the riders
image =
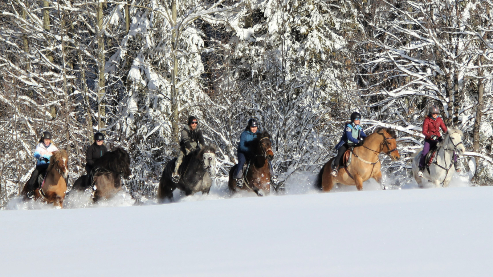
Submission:
<svg viewBox="0 0 493 277">
<path fill-rule="evenodd" d="M 393 186 L 411 179 L 430 105 L 464 132 L 463 171 L 493 180 L 492 0 L 3 0 L 1 206 L 35 168 L 43 131 L 85 174 L 93 134 L 132 158 L 126 189 L 153 199 L 188 116 L 236 163 L 249 118 L 272 135 L 285 180 L 315 173 L 353 111 L 365 132 L 398 131 L 381 155 Z"/>
</svg>

